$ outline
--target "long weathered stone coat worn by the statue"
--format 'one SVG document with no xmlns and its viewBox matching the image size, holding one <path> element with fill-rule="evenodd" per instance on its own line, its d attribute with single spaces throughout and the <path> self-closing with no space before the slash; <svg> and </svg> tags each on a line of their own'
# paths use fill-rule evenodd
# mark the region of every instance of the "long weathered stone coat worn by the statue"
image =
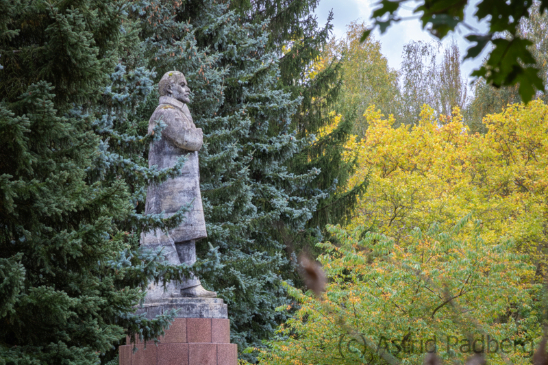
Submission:
<svg viewBox="0 0 548 365">
<path fill-rule="evenodd" d="M 173 242 L 206 238 L 208 235 L 206 221 L 203 218 L 198 166 L 198 150 L 203 142 L 201 130 L 197 129 L 192 122 L 192 116 L 186 104 L 171 97 L 160 97 L 160 105 L 149 121 L 149 133 L 153 131 L 156 121 L 160 118 L 167 127 L 162 130 L 162 138 L 151 143 L 149 166 L 173 167 L 181 155 L 186 155 L 188 160 L 184 164 L 181 175 L 163 184 L 149 186 L 145 213 L 164 212 L 167 217 L 173 215 L 183 205 L 192 202 L 190 211 L 186 213 L 186 219 L 179 227 L 171 229 L 169 236 Z"/>
</svg>

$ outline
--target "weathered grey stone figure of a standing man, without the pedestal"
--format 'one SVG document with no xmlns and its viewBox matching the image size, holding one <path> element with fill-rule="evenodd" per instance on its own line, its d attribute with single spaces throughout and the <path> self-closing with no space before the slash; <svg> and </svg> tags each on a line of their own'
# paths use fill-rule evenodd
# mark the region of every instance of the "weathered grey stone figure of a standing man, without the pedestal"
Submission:
<svg viewBox="0 0 548 365">
<path fill-rule="evenodd" d="M 208 236 L 206 221 L 200 194 L 200 173 L 198 151 L 202 145 L 202 131 L 192 122 L 187 103 L 190 102 L 190 88 L 184 75 L 178 71 L 166 73 L 158 84 L 160 105 L 149 121 L 149 134 L 153 133 L 156 121 L 162 121 L 166 128 L 162 138 L 152 142 L 149 151 L 149 166 L 159 168 L 173 167 L 181 155 L 188 160 L 184 164 L 182 175 L 169 179 L 160 185 L 151 185 L 147 191 L 146 214 L 164 212 L 166 216 L 175 214 L 183 205 L 192 203 L 186 219 L 179 227 L 171 229 L 166 236 L 161 231 L 152 231 L 142 235 L 142 244 L 151 247 L 163 247 L 162 253 L 171 264 L 194 264 L 196 262 L 196 241 Z M 158 290 L 155 294 L 158 297 Z M 200 280 L 192 275 L 182 283 L 170 283 L 169 297 L 216 297 L 215 292 L 204 289 Z M 149 295 L 147 294 L 147 296 Z M 161 294 L 165 297 L 166 294 Z"/>
</svg>

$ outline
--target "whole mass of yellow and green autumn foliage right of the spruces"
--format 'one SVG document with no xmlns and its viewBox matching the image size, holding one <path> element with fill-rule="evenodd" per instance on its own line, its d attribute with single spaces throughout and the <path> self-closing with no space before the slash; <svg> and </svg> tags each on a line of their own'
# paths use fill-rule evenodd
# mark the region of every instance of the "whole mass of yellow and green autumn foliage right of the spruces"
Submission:
<svg viewBox="0 0 548 365">
<path fill-rule="evenodd" d="M 458 109 L 425 107 L 400 127 L 365 116 L 347 148 L 353 179 L 370 184 L 351 225 L 328 227 L 337 244 L 319 244 L 325 294 L 288 286 L 298 309 L 261 364 L 422 364 L 429 351 L 453 364 L 475 350 L 530 364 L 545 310 L 548 106 L 509 105 L 484 135 Z"/>
</svg>

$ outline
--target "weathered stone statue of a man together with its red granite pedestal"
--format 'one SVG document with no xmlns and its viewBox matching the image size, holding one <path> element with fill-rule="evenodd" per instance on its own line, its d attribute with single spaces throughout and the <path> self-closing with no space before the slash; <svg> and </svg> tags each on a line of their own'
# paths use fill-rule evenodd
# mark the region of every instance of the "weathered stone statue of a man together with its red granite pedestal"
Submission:
<svg viewBox="0 0 548 365">
<path fill-rule="evenodd" d="M 160 105 L 149 121 L 149 132 L 158 121 L 166 124 L 160 140 L 151 144 L 149 166 L 159 168 L 174 166 L 181 156 L 188 158 L 182 175 L 149 186 L 145 212 L 164 216 L 175 214 L 183 205 L 192 202 L 186 220 L 167 234 L 160 231 L 145 232 L 141 244 L 150 249 L 161 249 L 164 260 L 171 264 L 194 264 L 195 241 L 206 238 L 206 223 L 201 204 L 198 150 L 202 144 L 202 131 L 192 122 L 186 103 L 189 102 L 186 79 L 182 73 L 166 73 L 159 84 Z M 120 347 L 121 365 L 216 365 L 237 364 L 237 346 L 229 344 L 230 323 L 227 305 L 200 285 L 194 275 L 183 283 L 173 281 L 150 284 L 145 303 L 136 310 L 147 318 L 155 318 L 170 310 L 177 310 L 175 320 L 158 339 L 158 344 L 147 343 L 147 348 L 136 341 Z M 218 347 L 221 346 L 221 347 Z M 228 345 L 228 346 L 227 346 Z"/>
</svg>

